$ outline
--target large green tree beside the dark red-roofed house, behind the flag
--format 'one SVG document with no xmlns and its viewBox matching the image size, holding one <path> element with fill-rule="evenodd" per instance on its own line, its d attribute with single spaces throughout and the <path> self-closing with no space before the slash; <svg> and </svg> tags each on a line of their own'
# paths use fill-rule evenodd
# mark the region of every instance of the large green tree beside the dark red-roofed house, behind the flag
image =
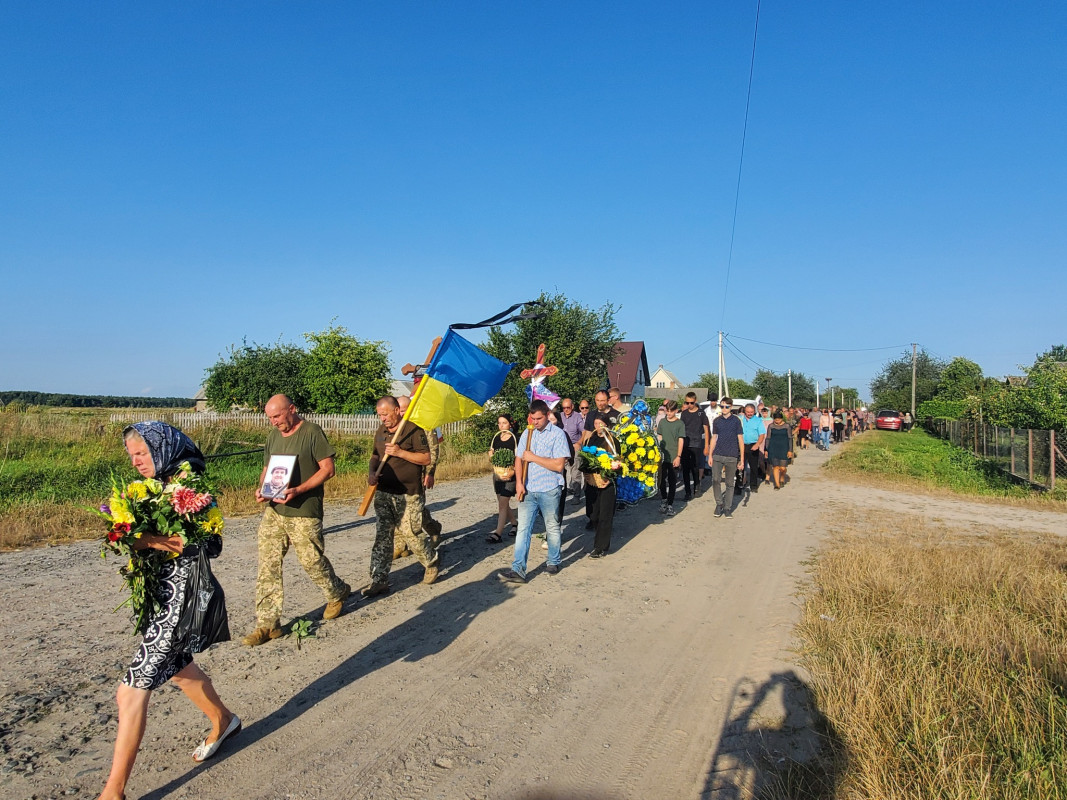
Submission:
<svg viewBox="0 0 1067 800">
<path fill-rule="evenodd" d="M 516 369 L 508 373 L 498 396 L 499 405 L 479 416 L 476 425 L 480 434 L 496 429 L 496 415 L 510 413 L 515 422 L 525 423 L 525 387 L 529 383 L 520 377 L 523 369 L 534 366 L 538 346 L 545 346 L 545 361 L 559 371 L 545 384 L 560 397 L 575 401 L 592 398 L 606 378 L 605 364 L 611 361 L 622 334 L 615 323 L 616 308 L 606 303 L 599 309 L 568 301 L 563 294 L 542 293 L 544 316 L 520 320 L 513 325 L 489 329 L 483 350 L 503 362 L 514 362 Z"/>
</svg>

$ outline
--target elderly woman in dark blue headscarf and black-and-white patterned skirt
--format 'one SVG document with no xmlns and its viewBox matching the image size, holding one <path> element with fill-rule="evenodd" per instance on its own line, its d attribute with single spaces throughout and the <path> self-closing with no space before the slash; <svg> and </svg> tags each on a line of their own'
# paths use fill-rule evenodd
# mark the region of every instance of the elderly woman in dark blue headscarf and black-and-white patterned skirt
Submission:
<svg viewBox="0 0 1067 800">
<path fill-rule="evenodd" d="M 186 434 L 165 422 L 137 422 L 123 431 L 123 439 L 130 462 L 145 478 L 166 483 L 179 474 L 186 462 L 193 471 L 204 469 L 204 455 L 200 448 Z M 222 551 L 222 539 L 213 535 L 201 546 L 207 550 L 209 558 L 213 558 Z M 210 758 L 227 736 L 241 729 L 241 720 L 219 698 L 211 678 L 193 663 L 193 652 L 198 653 L 218 641 L 229 639 L 228 626 L 223 624 L 212 636 L 197 637 L 192 643 L 188 637 L 182 638 L 178 629 L 194 566 L 201 561 L 200 548 L 196 545 L 182 546 L 180 537 L 155 533 L 142 534 L 136 547 L 173 553 L 176 557 L 163 561 L 159 567 L 155 592 L 159 609 L 148 621 L 144 638 L 118 685 L 115 697 L 118 733 L 111 773 L 100 793 L 100 800 L 125 797 L 126 782 L 144 736 L 148 699 L 153 689 L 158 689 L 168 681 L 181 689 L 211 722 L 211 732 L 193 751 L 194 762 Z M 216 588 L 221 598 L 221 587 Z M 224 608 L 222 614 L 224 619 Z"/>
</svg>

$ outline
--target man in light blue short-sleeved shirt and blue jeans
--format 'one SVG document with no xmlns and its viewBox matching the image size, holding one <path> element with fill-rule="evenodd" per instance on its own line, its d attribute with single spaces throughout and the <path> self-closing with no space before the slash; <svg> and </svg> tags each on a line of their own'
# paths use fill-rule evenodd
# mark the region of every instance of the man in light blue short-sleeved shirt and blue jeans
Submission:
<svg viewBox="0 0 1067 800">
<path fill-rule="evenodd" d="M 515 499 L 519 500 L 519 531 L 515 534 L 515 556 L 510 570 L 501 570 L 500 580 L 526 582 L 526 558 L 538 512 L 544 517 L 548 540 L 548 561 L 545 572 L 559 572 L 560 529 L 557 511 L 563 491 L 563 467 L 571 448 L 561 428 L 548 422 L 548 406 L 543 400 L 530 403 L 529 423 L 515 448 Z"/>
</svg>

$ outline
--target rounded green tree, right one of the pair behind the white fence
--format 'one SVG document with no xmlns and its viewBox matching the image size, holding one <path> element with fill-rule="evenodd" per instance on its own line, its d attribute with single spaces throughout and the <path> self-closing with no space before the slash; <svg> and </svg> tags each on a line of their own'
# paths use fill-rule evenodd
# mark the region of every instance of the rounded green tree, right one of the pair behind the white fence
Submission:
<svg viewBox="0 0 1067 800">
<path fill-rule="evenodd" d="M 354 414 L 389 394 L 389 350 L 384 341 L 357 339 L 336 324 L 304 338 L 310 346 L 301 369 L 307 411 Z"/>
</svg>

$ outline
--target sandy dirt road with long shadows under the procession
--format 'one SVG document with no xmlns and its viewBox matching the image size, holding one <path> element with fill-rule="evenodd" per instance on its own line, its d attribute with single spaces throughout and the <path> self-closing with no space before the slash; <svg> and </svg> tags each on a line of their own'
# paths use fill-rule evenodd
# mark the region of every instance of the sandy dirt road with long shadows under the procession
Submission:
<svg viewBox="0 0 1067 800">
<path fill-rule="evenodd" d="M 743 797 L 764 759 L 812 748 L 790 644 L 828 509 L 899 499 L 821 477 L 825 459 L 805 451 L 785 490 L 765 487 L 732 521 L 712 517 L 710 493 L 671 518 L 652 501 L 627 510 L 599 561 L 569 503 L 561 572 L 546 574 L 535 546 L 519 587 L 495 577 L 511 547 L 484 542 L 489 479 L 440 486 L 439 582 L 421 586 L 407 558 L 393 594 L 350 601 L 301 650 L 235 641 L 198 656 L 244 730 L 194 766 L 203 718 L 176 689 L 156 692 L 129 797 Z M 967 506 L 912 496 L 902 513 L 988 523 L 988 506 Z M 1012 511 L 1023 527 L 1067 527 L 1062 514 Z M 235 638 L 253 622 L 256 523 L 232 521 L 214 562 Z M 327 525 L 338 574 L 365 582 L 372 518 L 333 503 Z M 92 544 L 0 556 L 0 796 L 92 798 L 102 786 L 114 685 L 136 641 L 111 613 L 115 569 Z M 287 612 L 320 620 L 292 556 L 286 569 Z"/>
</svg>

